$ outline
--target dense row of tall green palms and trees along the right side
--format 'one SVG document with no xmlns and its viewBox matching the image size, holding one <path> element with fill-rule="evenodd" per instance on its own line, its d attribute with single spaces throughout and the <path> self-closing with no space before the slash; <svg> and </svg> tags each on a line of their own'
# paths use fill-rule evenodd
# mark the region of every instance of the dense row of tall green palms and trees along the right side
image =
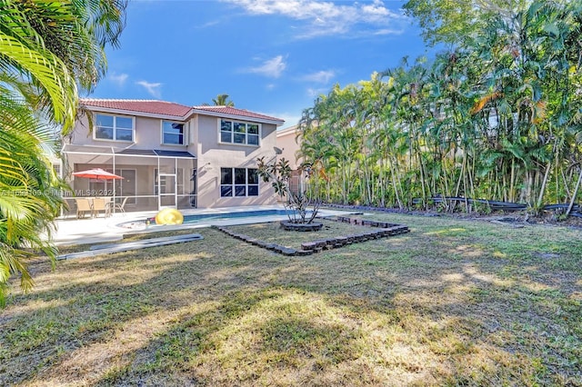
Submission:
<svg viewBox="0 0 582 387">
<path fill-rule="evenodd" d="M 576 201 L 582 5 L 487 4 L 487 25 L 454 50 L 405 60 L 381 81 L 336 85 L 304 112 L 302 152 L 328 166 L 328 198 L 402 207 L 457 196 L 467 211 L 467 198 L 485 198 L 525 202 L 533 213 Z"/>
</svg>

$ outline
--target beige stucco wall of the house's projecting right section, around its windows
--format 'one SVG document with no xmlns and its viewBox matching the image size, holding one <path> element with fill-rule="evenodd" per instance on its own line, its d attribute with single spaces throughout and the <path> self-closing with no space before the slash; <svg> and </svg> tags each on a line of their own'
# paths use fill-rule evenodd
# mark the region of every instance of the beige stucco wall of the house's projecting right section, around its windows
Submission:
<svg viewBox="0 0 582 387">
<path fill-rule="evenodd" d="M 271 184 L 259 182 L 259 195 L 247 197 L 220 197 L 221 168 L 256 168 L 256 159 L 275 157 L 276 125 L 260 124 L 259 146 L 221 144 L 220 118 L 198 115 L 193 124 L 197 171 L 198 207 L 236 207 L 245 205 L 273 204 L 276 196 Z M 252 121 L 234 120 L 237 122 Z"/>
</svg>

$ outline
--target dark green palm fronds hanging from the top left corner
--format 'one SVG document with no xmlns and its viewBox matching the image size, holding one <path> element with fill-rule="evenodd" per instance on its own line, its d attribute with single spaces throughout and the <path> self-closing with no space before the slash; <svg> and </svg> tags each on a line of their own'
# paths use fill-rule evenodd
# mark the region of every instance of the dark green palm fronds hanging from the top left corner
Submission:
<svg viewBox="0 0 582 387">
<path fill-rule="evenodd" d="M 45 49 L 63 61 L 79 86 L 91 91 L 105 75 L 105 45 L 119 45 L 125 0 L 82 0 L 55 6 L 45 1 L 3 0 L 6 35 Z"/>
</svg>

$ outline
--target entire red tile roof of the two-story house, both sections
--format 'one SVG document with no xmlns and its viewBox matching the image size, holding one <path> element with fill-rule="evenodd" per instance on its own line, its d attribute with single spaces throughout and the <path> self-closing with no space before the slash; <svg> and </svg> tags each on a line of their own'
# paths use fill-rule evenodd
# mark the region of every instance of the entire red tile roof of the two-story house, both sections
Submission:
<svg viewBox="0 0 582 387">
<path fill-rule="evenodd" d="M 130 100 L 130 99 L 92 99 L 82 98 L 79 104 L 88 108 L 104 108 L 114 109 L 119 111 L 137 112 L 144 114 L 161 114 L 176 116 L 181 119 L 186 119 L 187 116 L 194 111 L 197 114 L 211 114 L 211 115 L 227 115 L 244 118 L 252 118 L 256 120 L 265 120 L 283 124 L 284 120 L 272 117 L 266 114 L 258 114 L 250 112 L 245 109 L 238 109 L 231 106 L 186 106 L 184 104 L 176 104 L 172 102 L 156 101 L 156 100 Z"/>
</svg>

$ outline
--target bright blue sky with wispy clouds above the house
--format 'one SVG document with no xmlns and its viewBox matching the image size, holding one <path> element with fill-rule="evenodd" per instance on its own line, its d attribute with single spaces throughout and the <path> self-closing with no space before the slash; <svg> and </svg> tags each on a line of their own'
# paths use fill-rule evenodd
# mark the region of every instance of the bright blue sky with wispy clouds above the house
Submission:
<svg viewBox="0 0 582 387">
<path fill-rule="evenodd" d="M 296 124 L 318 94 L 426 55 L 403 1 L 132 0 L 92 98 L 236 107 Z M 86 96 L 86 95 L 85 95 Z"/>
</svg>

